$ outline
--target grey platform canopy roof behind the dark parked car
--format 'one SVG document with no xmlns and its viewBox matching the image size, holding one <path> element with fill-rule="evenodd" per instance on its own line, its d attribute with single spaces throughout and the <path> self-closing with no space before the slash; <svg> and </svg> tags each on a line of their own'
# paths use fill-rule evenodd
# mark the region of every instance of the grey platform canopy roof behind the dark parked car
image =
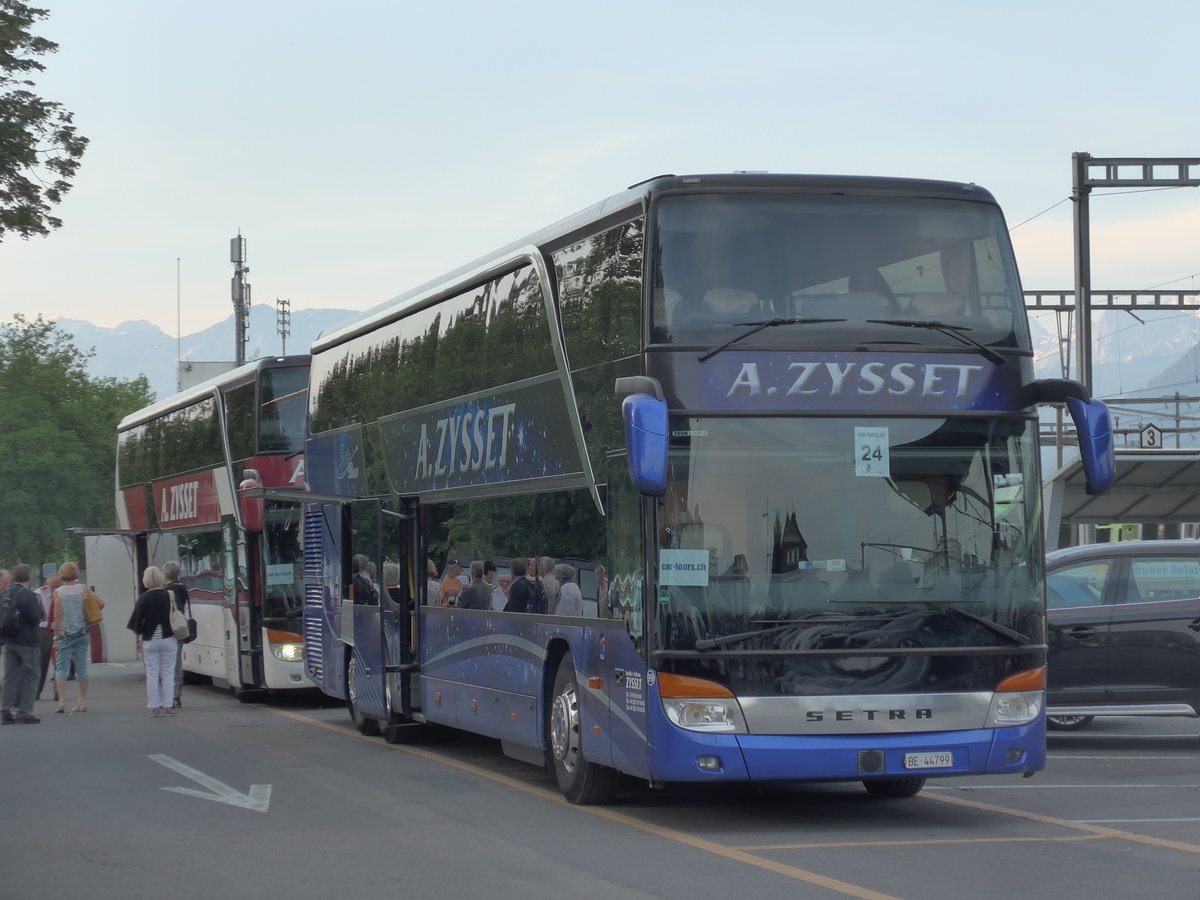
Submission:
<svg viewBox="0 0 1200 900">
<path fill-rule="evenodd" d="M 1200 448 L 1117 450 L 1116 481 L 1092 497 L 1079 460 L 1045 482 L 1046 534 L 1060 524 L 1180 524 L 1200 522 Z"/>
</svg>

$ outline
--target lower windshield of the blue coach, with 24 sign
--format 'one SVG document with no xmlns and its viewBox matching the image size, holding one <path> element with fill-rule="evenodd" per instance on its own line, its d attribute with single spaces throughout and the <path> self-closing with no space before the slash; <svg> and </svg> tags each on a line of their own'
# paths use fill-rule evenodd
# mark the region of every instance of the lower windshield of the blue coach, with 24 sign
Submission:
<svg viewBox="0 0 1200 900">
<path fill-rule="evenodd" d="M 695 416 L 671 428 L 659 649 L 1043 642 L 1030 422 Z"/>
</svg>

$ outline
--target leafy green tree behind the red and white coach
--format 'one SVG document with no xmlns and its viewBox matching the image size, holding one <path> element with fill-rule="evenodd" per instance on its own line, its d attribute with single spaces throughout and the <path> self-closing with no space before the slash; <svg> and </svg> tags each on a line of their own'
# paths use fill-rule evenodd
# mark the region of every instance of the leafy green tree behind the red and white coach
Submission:
<svg viewBox="0 0 1200 900">
<path fill-rule="evenodd" d="M 0 325 L 0 560 L 78 559 L 67 528 L 115 523 L 116 424 L 154 400 L 144 376 L 91 378 L 70 334 L 38 316 Z"/>
</svg>

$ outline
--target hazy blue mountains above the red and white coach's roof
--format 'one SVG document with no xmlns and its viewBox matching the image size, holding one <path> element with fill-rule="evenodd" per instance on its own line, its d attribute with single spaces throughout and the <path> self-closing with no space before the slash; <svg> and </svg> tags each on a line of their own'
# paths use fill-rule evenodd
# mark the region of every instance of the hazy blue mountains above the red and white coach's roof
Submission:
<svg viewBox="0 0 1200 900">
<path fill-rule="evenodd" d="M 322 331 L 354 316 L 354 310 L 293 310 L 287 338 L 289 354 L 307 353 Z M 149 322 L 122 322 L 116 328 L 100 328 L 83 319 L 58 319 L 59 326 L 74 336 L 80 349 L 96 350 L 88 371 L 96 377 L 130 379 L 144 374 L 158 400 L 175 392 L 176 360 L 191 362 L 232 361 L 234 317 L 203 331 L 176 340 Z M 283 342 L 274 306 L 251 306 L 246 359 L 280 354 Z M 230 362 L 232 365 L 232 362 Z"/>
</svg>

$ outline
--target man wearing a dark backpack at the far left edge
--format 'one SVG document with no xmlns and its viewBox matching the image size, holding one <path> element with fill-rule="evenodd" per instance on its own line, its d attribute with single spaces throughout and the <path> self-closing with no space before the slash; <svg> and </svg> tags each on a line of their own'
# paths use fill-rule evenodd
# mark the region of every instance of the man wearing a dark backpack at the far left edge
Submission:
<svg viewBox="0 0 1200 900">
<path fill-rule="evenodd" d="M 0 697 L 0 725 L 37 725 L 34 698 L 37 696 L 41 641 L 38 624 L 46 617 L 42 600 L 29 582 L 32 570 L 22 563 L 13 566 L 13 586 L 0 599 L 0 660 L 4 662 L 4 695 Z"/>
</svg>

